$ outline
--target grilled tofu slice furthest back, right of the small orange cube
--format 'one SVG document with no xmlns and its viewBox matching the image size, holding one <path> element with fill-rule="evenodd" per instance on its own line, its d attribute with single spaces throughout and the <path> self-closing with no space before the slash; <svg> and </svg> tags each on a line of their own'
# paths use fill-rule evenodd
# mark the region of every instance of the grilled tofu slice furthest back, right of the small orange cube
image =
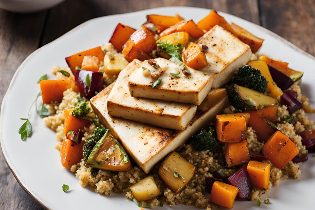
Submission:
<svg viewBox="0 0 315 210">
<path fill-rule="evenodd" d="M 208 66 L 200 69 L 210 77 L 214 77 L 212 88 L 219 88 L 232 80 L 234 72 L 247 64 L 252 51 L 231 32 L 221 26 L 214 26 L 197 41 L 208 46 L 205 52 Z"/>
</svg>

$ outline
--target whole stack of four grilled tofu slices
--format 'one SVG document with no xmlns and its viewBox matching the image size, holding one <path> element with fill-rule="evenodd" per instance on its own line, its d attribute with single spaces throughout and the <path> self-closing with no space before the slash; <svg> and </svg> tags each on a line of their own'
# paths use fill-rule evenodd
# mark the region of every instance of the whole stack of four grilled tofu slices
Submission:
<svg viewBox="0 0 315 210">
<path fill-rule="evenodd" d="M 157 65 L 133 60 L 113 84 L 90 100 L 100 122 L 145 173 L 215 120 L 228 103 L 226 90 L 220 87 L 252 55 L 247 44 L 220 26 L 197 43 L 209 48 L 205 68 L 189 68 L 191 74 L 185 76 L 178 71 L 179 64 L 167 59 L 154 59 Z M 158 78 L 144 76 L 144 69 L 152 74 L 157 66 L 162 70 Z M 176 72 L 179 77 L 170 74 Z M 157 79 L 161 82 L 152 88 Z"/>
</svg>

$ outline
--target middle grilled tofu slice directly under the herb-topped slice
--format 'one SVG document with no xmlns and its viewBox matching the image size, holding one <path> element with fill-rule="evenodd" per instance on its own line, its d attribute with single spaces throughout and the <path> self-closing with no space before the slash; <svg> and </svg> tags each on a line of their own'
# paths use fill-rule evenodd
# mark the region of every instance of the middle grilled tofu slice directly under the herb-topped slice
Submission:
<svg viewBox="0 0 315 210">
<path fill-rule="evenodd" d="M 120 72 L 108 96 L 108 113 L 162 128 L 184 130 L 196 113 L 196 105 L 135 98 L 130 95 L 129 75 L 138 69 L 141 63 L 139 60 L 134 60 Z"/>
</svg>

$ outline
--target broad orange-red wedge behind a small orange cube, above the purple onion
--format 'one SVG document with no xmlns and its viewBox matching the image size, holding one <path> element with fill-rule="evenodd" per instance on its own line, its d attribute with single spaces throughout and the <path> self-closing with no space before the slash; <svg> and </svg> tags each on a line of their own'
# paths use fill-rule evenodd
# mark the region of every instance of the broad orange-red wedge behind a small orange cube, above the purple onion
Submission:
<svg viewBox="0 0 315 210">
<path fill-rule="evenodd" d="M 81 68 L 82 61 L 85 55 L 97 56 L 99 60 L 104 60 L 104 56 L 105 56 L 103 50 L 100 47 L 96 47 L 96 48 L 85 50 L 83 52 L 66 57 L 66 62 L 68 66 L 70 67 L 73 74 L 75 74 L 76 72 L 76 66 L 79 66 Z"/>
</svg>

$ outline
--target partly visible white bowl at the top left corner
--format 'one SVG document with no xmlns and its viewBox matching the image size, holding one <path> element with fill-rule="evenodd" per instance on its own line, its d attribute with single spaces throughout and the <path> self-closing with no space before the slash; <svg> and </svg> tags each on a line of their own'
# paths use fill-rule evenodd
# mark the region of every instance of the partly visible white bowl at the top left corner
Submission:
<svg viewBox="0 0 315 210">
<path fill-rule="evenodd" d="M 53 7 L 64 0 L 0 0 L 0 8 L 10 12 L 37 12 Z"/>
</svg>

